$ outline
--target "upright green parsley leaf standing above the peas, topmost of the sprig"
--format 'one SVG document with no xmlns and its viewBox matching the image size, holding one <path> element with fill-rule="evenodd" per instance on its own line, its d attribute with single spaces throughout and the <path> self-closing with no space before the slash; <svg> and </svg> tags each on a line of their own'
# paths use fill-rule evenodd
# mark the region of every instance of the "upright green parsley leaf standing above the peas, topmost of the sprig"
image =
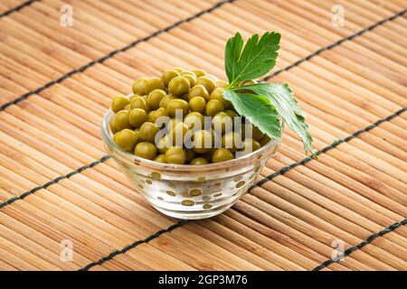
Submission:
<svg viewBox="0 0 407 289">
<path fill-rule="evenodd" d="M 276 64 L 279 39 L 279 33 L 264 33 L 260 40 L 259 34 L 254 34 L 244 48 L 240 33 L 229 39 L 224 53 L 229 87 L 244 80 L 260 78 L 269 72 Z"/>
</svg>

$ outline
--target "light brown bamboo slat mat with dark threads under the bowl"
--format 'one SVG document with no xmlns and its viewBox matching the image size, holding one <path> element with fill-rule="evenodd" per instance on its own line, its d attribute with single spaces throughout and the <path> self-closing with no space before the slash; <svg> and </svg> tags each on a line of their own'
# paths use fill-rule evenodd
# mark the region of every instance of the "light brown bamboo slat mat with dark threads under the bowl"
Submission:
<svg viewBox="0 0 407 289">
<path fill-rule="evenodd" d="M 64 4 L 73 26 L 60 24 Z M 334 5 L 344 8 L 343 27 L 332 23 Z M 406 270 L 406 8 L 405 0 L 2 2 L 0 269 Z M 104 153 L 101 116 L 140 76 L 181 66 L 225 79 L 223 45 L 238 31 L 282 33 L 277 67 L 263 80 L 294 89 L 318 159 L 287 131 L 231 210 L 167 218 Z M 344 250 L 332 259 L 337 246 Z"/>
</svg>

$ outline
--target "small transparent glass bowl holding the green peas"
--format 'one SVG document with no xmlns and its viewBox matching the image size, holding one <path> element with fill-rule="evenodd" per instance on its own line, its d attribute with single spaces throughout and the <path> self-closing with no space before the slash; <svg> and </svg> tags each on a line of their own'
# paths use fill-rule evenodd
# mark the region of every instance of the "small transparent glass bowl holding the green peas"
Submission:
<svg viewBox="0 0 407 289">
<path fill-rule="evenodd" d="M 108 154 L 156 210 L 177 219 L 205 219 L 228 210 L 249 189 L 280 141 L 223 163 L 202 165 L 157 163 L 122 150 L 112 140 L 103 117 L 101 135 Z"/>
</svg>

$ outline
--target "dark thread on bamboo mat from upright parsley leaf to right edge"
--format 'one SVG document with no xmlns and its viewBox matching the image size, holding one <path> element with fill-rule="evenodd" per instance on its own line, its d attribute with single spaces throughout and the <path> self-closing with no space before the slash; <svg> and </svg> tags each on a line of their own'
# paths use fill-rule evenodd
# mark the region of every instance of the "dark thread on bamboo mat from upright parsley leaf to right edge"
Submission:
<svg viewBox="0 0 407 289">
<path fill-rule="evenodd" d="M 383 25 L 383 23 L 387 23 L 387 22 L 389 22 L 389 21 L 393 21 L 394 19 L 396 19 L 397 17 L 402 16 L 402 15 L 405 14 L 406 12 L 407 12 L 407 9 L 404 9 L 403 11 L 401 11 L 401 12 L 399 12 L 399 13 L 397 13 L 397 14 L 393 14 L 393 16 L 390 16 L 390 17 L 388 17 L 388 18 L 384 18 L 383 20 L 381 20 L 381 21 L 379 21 L 379 22 L 377 22 L 377 23 L 374 23 L 372 26 L 369 26 L 369 27 L 367 27 L 367 28 L 364 28 L 363 30 L 359 31 L 358 33 L 355 33 L 355 34 L 352 34 L 352 35 L 347 36 L 347 37 L 345 37 L 345 38 L 342 38 L 342 39 L 338 40 L 337 42 L 334 42 L 334 43 L 332 43 L 332 44 L 329 44 L 329 45 L 326 46 L 326 47 L 322 47 L 322 48 L 318 49 L 317 51 L 315 51 L 314 53 L 309 54 L 309 55 L 306 56 L 305 58 L 302 58 L 302 59 L 300 59 L 299 61 L 296 61 L 296 62 L 290 64 L 288 67 L 286 67 L 286 68 L 284 68 L 284 69 L 281 69 L 281 70 L 277 70 L 276 72 L 270 74 L 269 76 L 267 76 L 267 77 L 261 79 L 261 81 L 267 81 L 267 80 L 269 80 L 269 79 L 271 79 L 271 78 L 273 78 L 273 77 L 275 77 L 275 76 L 278 76 L 281 72 L 291 70 L 291 69 L 297 67 L 297 66 L 298 66 L 299 64 L 301 64 L 302 62 L 309 61 L 310 59 L 316 57 L 317 55 L 319 55 L 320 53 L 322 53 L 322 52 L 324 52 L 324 51 L 329 51 L 329 50 L 335 48 L 336 46 L 341 45 L 343 42 L 351 41 L 351 40 L 353 40 L 355 37 L 358 37 L 358 36 L 360 36 L 360 35 L 362 35 L 362 34 L 364 34 L 364 33 L 367 33 L 367 32 L 369 32 L 369 31 L 371 31 L 371 30 L 374 30 L 374 28 L 376 28 L 376 27 L 378 27 L 378 26 L 380 26 L 380 25 Z"/>
</svg>

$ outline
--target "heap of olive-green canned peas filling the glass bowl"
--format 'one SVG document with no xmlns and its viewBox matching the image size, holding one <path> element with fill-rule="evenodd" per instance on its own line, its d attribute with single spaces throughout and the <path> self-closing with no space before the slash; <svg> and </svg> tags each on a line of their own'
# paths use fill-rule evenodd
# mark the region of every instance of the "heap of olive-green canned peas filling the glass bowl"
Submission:
<svg viewBox="0 0 407 289">
<path fill-rule="evenodd" d="M 232 103 L 223 98 L 227 85 L 226 81 L 216 79 L 204 70 L 181 68 L 166 70 L 160 78 L 136 79 L 130 98 L 118 96 L 111 101 L 115 113 L 109 122 L 113 141 L 129 153 L 159 163 L 225 162 L 235 158 L 236 152 L 249 144 L 255 151 L 270 141 L 256 126 L 252 126 L 252 137 L 243 140 L 242 134 L 225 131 L 225 122 L 238 117 Z M 181 111 L 182 121 L 175 118 L 176 110 Z M 159 139 L 159 145 L 156 145 L 156 134 L 161 129 L 156 124 L 158 117 L 169 117 L 166 124 L 169 134 Z M 192 148 L 175 145 L 171 135 L 177 131 L 187 134 L 196 121 L 204 123 L 204 117 L 212 117 L 212 125 L 221 127 L 217 133 L 222 135 L 222 147 L 204 146 L 206 139 L 213 139 L 213 132 L 204 129 L 194 131 Z M 240 148 L 235 145 L 238 139 L 242 142 Z"/>
</svg>

